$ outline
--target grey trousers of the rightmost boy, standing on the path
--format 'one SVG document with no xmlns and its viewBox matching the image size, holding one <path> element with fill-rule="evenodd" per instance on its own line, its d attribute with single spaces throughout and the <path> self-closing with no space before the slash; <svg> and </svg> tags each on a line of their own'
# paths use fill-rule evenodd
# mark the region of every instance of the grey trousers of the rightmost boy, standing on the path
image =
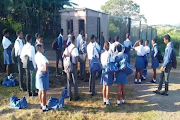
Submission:
<svg viewBox="0 0 180 120">
<path fill-rule="evenodd" d="M 165 70 L 161 72 L 158 90 L 162 89 L 163 81 L 165 81 L 165 91 L 168 91 L 169 74 L 170 74 L 171 68 L 172 68 L 172 63 L 168 63 Z"/>
</svg>

